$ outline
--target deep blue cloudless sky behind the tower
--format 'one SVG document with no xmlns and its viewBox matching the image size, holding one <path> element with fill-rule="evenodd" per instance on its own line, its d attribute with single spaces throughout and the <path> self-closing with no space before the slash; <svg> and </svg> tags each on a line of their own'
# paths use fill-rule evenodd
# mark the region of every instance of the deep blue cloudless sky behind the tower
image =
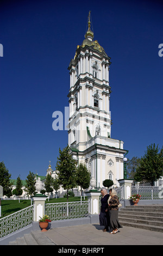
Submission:
<svg viewBox="0 0 163 256">
<path fill-rule="evenodd" d="M 68 106 L 67 70 L 86 32 L 111 57 L 111 138 L 128 157 L 162 147 L 162 1 L 1 1 L 0 161 L 12 179 L 55 169 L 67 131 L 54 131 L 54 111 Z"/>
</svg>

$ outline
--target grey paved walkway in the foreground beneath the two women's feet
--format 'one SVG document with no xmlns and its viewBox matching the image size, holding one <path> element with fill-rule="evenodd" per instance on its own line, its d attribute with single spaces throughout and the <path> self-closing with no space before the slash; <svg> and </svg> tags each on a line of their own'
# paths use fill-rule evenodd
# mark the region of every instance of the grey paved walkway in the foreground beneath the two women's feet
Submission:
<svg viewBox="0 0 163 256">
<path fill-rule="evenodd" d="M 163 233 L 146 229 L 124 227 L 117 234 L 103 232 L 97 224 L 76 225 L 42 232 L 55 245 L 163 245 Z"/>
</svg>

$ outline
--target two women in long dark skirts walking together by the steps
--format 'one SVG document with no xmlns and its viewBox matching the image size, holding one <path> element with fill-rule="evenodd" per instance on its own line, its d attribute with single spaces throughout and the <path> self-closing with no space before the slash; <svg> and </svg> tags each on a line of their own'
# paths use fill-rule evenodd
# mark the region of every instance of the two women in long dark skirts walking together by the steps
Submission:
<svg viewBox="0 0 163 256">
<path fill-rule="evenodd" d="M 109 190 L 109 194 L 103 188 L 101 190 L 101 213 L 99 215 L 99 224 L 104 226 L 103 231 L 109 231 L 112 229 L 110 234 L 116 234 L 118 228 L 122 228 L 118 221 L 118 205 L 120 204 L 117 197 L 117 192 L 114 189 Z"/>
</svg>

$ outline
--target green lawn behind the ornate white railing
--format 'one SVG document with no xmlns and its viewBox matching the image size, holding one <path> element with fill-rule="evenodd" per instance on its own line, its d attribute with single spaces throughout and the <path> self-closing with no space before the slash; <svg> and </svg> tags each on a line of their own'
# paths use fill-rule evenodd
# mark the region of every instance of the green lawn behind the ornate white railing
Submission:
<svg viewBox="0 0 163 256">
<path fill-rule="evenodd" d="M 83 200 L 83 198 L 82 198 Z M 85 200 L 87 200 L 87 197 L 85 197 Z M 80 201 L 80 197 L 68 197 L 68 202 L 77 202 Z M 46 199 L 46 204 L 51 203 L 64 203 L 67 202 L 67 198 L 52 198 L 52 199 Z M 20 200 L 20 203 L 18 200 L 2 200 L 1 201 L 1 217 L 6 217 L 10 214 L 14 214 L 16 211 L 20 211 L 28 206 L 30 206 L 31 201 L 30 200 Z"/>
</svg>

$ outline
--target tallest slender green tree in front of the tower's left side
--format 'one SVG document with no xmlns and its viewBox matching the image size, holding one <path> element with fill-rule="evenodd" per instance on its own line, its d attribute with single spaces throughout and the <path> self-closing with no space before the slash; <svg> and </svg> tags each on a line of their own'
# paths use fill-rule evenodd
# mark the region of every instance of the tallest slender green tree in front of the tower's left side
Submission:
<svg viewBox="0 0 163 256">
<path fill-rule="evenodd" d="M 70 147 L 67 145 L 62 151 L 59 149 L 59 156 L 57 157 L 57 174 L 59 184 L 67 191 L 77 186 L 76 182 L 76 160 L 72 159 L 70 155 Z"/>
</svg>

